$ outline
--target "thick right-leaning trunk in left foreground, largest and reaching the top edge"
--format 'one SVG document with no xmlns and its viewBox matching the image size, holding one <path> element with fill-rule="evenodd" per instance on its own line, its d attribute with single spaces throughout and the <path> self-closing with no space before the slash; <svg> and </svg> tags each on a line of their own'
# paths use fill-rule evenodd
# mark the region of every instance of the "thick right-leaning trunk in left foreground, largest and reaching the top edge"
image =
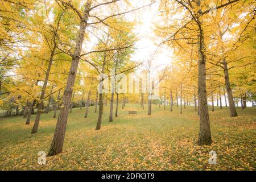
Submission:
<svg viewBox="0 0 256 182">
<path fill-rule="evenodd" d="M 87 20 L 90 11 L 90 5 L 92 1 L 87 1 L 84 9 L 84 14 L 81 19 L 79 35 L 76 40 L 75 53 L 73 54 L 71 69 L 68 75 L 67 86 L 63 95 L 63 104 L 60 109 L 60 115 L 57 120 L 56 129 L 54 133 L 54 137 L 52 140 L 51 148 L 49 149 L 48 156 L 57 155 L 62 151 L 64 137 L 65 137 L 65 129 L 68 120 L 68 110 L 71 102 L 73 86 L 75 83 L 77 67 L 79 65 L 80 53 L 82 49 L 82 42 L 84 41 L 85 28 L 87 26 Z"/>
</svg>

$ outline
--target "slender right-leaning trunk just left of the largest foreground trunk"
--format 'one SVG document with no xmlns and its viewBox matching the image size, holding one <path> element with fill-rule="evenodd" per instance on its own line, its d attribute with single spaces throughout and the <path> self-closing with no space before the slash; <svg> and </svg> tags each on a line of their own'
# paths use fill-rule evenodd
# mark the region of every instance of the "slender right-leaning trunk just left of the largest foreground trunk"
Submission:
<svg viewBox="0 0 256 182">
<path fill-rule="evenodd" d="M 53 56 L 55 54 L 55 49 L 56 49 L 56 46 L 53 47 L 53 50 L 51 52 L 51 57 L 49 59 L 49 64 L 48 64 L 48 68 L 46 71 L 46 77 L 44 78 L 44 84 L 43 84 L 43 88 L 42 88 L 42 92 L 41 92 L 41 96 L 40 96 L 40 101 L 38 104 L 38 112 L 36 113 L 35 123 L 34 123 L 32 131 L 31 131 L 32 134 L 38 133 L 40 116 L 41 116 L 41 113 L 43 111 L 43 106 L 44 106 L 44 95 L 46 94 L 46 87 L 47 87 L 48 80 L 49 80 L 49 73 L 51 71 Z"/>
</svg>

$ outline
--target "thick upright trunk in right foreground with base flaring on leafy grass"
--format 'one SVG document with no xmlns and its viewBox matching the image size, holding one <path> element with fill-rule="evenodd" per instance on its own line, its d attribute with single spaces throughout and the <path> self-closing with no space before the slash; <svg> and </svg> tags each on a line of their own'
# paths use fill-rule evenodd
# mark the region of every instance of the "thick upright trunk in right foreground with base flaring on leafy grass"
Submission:
<svg viewBox="0 0 256 182">
<path fill-rule="evenodd" d="M 200 16 L 201 17 L 201 16 Z M 207 104 L 207 88 L 206 88 L 206 55 L 204 43 L 204 30 L 199 20 L 199 61 L 198 61 L 198 89 L 199 89 L 199 116 L 200 116 L 200 132 L 199 132 L 199 145 L 211 144 L 212 135 L 210 133 L 210 119 Z"/>
</svg>

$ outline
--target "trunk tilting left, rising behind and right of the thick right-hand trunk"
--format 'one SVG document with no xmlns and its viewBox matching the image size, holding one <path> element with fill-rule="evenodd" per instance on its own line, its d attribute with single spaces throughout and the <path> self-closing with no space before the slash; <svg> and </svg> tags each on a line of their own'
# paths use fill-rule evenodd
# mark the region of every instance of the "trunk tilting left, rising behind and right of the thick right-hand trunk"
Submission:
<svg viewBox="0 0 256 182">
<path fill-rule="evenodd" d="M 234 105 L 234 98 L 233 98 L 232 89 L 229 82 L 228 64 L 226 63 L 225 58 L 223 59 L 223 65 L 224 65 L 224 73 L 225 73 L 226 92 L 228 93 L 228 100 L 229 100 L 230 117 L 237 117 L 237 110 L 236 110 L 236 106 Z"/>
</svg>

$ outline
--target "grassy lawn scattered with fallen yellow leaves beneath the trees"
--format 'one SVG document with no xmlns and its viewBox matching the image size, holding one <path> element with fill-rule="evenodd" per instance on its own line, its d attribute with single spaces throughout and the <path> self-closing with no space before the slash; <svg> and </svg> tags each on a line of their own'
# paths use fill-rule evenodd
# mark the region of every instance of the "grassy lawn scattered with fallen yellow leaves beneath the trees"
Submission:
<svg viewBox="0 0 256 182">
<path fill-rule="evenodd" d="M 128 110 L 138 115 L 129 116 Z M 1 170 L 255 170 L 256 108 L 237 109 L 238 117 L 230 118 L 228 108 L 210 113 L 213 144 L 197 146 L 199 118 L 194 108 L 179 114 L 175 106 L 147 108 L 127 104 L 119 117 L 108 122 L 109 107 L 104 109 L 100 131 L 95 131 L 97 114 L 94 107 L 89 118 L 85 108 L 69 114 L 63 152 L 37 164 L 38 152 L 51 144 L 56 119 L 43 114 L 38 134 L 31 135 L 31 125 L 22 117 L 0 119 Z M 209 165 L 209 151 L 217 152 L 217 164 Z"/>
</svg>

